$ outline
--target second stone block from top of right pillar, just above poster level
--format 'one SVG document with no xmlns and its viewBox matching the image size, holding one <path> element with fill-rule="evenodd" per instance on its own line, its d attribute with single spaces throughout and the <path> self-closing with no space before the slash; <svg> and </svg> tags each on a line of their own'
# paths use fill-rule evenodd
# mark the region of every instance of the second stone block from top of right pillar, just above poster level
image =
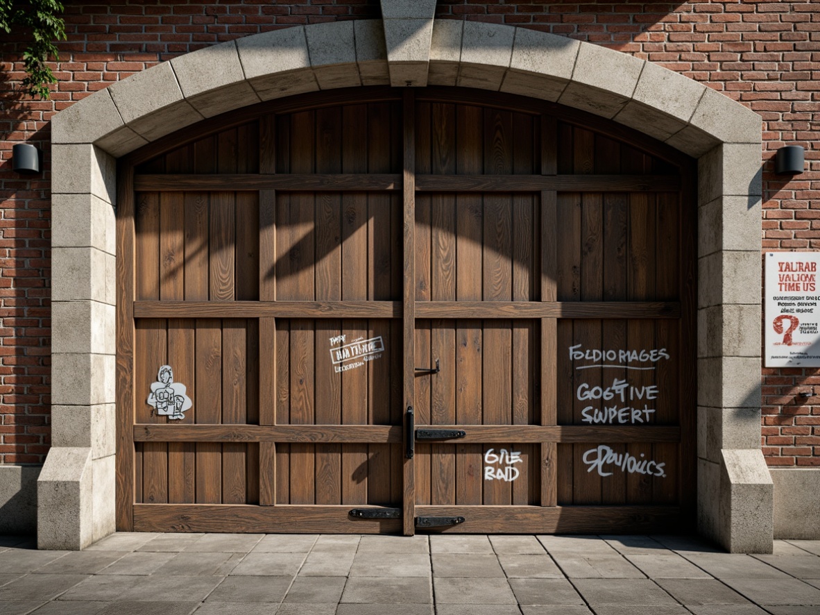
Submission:
<svg viewBox="0 0 820 615">
<path fill-rule="evenodd" d="M 720 250 L 759 252 L 760 210 L 758 196 L 725 196 L 699 207 L 698 256 Z"/>
</svg>

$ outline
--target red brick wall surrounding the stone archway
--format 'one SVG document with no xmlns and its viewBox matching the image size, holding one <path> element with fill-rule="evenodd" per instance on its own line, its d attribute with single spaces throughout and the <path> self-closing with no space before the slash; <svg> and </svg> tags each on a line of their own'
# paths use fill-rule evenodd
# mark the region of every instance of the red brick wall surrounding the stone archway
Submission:
<svg viewBox="0 0 820 615">
<path fill-rule="evenodd" d="M 38 462 L 48 449 L 48 171 L 11 172 L 11 145 L 42 146 L 48 120 L 72 101 L 157 62 L 277 27 L 375 18 L 376 0 L 71 2 L 50 102 L 14 88 L 20 46 L 0 36 L 0 462 Z M 763 248 L 820 248 L 818 2 L 515 2 L 440 0 L 442 18 L 523 25 L 616 48 L 679 71 L 763 116 Z M 16 49 L 16 52 L 15 52 Z M 771 158 L 802 144 L 811 172 L 784 182 Z M 763 446 L 771 465 L 820 465 L 820 371 L 763 370 Z M 818 388 L 820 394 L 820 388 Z M 813 403 L 818 405 L 813 405 Z"/>
</svg>

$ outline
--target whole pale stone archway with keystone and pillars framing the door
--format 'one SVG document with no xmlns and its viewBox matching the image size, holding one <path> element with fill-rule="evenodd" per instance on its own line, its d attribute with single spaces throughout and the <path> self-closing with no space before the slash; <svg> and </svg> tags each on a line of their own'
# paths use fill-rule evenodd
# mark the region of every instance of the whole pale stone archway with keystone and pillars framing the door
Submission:
<svg viewBox="0 0 820 615">
<path fill-rule="evenodd" d="M 115 530 L 116 157 L 204 117 L 295 93 L 370 84 L 500 90 L 631 126 L 699 160 L 698 525 L 732 552 L 771 552 L 760 451 L 761 120 L 702 84 L 624 53 L 506 25 L 296 26 L 176 57 L 52 121 L 52 449 L 39 546 Z"/>
</svg>

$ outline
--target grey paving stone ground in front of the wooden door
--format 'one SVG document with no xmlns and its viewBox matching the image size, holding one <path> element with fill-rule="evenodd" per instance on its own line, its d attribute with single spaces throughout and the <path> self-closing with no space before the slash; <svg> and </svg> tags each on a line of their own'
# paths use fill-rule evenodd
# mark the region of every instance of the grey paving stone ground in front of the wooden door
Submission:
<svg viewBox="0 0 820 615">
<path fill-rule="evenodd" d="M 818 615 L 820 540 L 118 533 L 0 535 L 0 615 Z"/>
</svg>

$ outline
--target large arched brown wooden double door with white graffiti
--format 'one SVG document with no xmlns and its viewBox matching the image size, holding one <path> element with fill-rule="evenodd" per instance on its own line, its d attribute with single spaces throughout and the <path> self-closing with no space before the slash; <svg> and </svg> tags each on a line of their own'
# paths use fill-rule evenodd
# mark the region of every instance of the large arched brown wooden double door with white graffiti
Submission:
<svg viewBox="0 0 820 615">
<path fill-rule="evenodd" d="M 119 172 L 119 529 L 690 524 L 689 158 L 554 104 L 376 88 Z"/>
</svg>

